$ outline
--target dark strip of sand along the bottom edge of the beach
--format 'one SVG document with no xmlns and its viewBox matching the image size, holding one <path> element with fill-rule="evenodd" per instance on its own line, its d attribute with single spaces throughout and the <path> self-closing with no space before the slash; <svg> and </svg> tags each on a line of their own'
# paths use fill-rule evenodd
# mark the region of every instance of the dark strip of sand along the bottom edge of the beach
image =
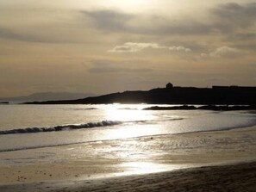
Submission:
<svg viewBox="0 0 256 192">
<path fill-rule="evenodd" d="M 255 191 L 256 161 L 159 173 L 66 181 L 0 185 L 2 192 L 25 191 Z"/>
</svg>

